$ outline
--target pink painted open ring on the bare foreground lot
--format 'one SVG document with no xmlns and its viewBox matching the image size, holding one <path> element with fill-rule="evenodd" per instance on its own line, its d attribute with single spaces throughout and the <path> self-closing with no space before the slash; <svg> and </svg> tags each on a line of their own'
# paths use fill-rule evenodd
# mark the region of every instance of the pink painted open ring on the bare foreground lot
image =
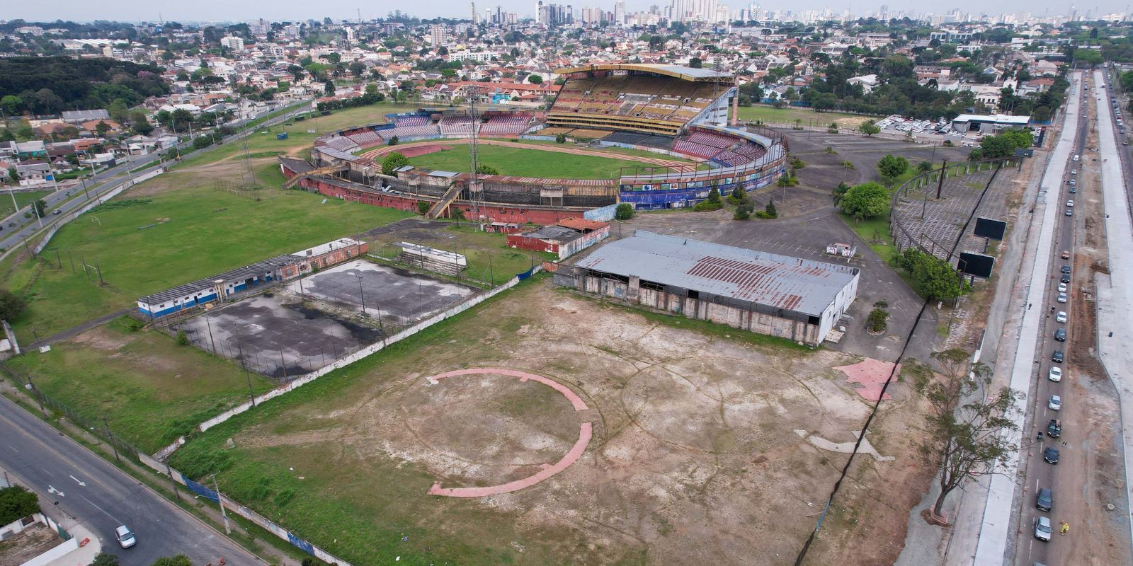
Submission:
<svg viewBox="0 0 1133 566">
<path fill-rule="evenodd" d="M 562 394 L 570 401 L 571 406 L 576 411 L 586 411 L 589 408 L 586 406 L 586 402 L 578 396 L 577 393 L 571 391 L 569 387 L 555 381 L 554 379 L 543 377 L 536 374 L 528 374 L 526 371 L 517 371 L 513 369 L 501 369 L 501 368 L 471 368 L 471 369 L 458 369 L 453 371 L 445 371 L 444 374 L 437 374 L 435 376 L 426 377 L 425 379 L 431 384 L 437 384 L 441 379 L 459 376 L 470 376 L 470 375 L 482 375 L 482 374 L 494 374 L 500 376 L 517 377 L 520 381 L 537 381 L 552 389 Z M 594 424 L 590 421 L 585 421 L 579 423 L 578 440 L 574 445 L 566 451 L 566 455 L 562 457 L 559 462 L 554 464 L 544 464 L 543 470 L 539 470 L 533 475 L 527 478 L 509 481 L 508 483 L 501 483 L 499 486 L 487 486 L 478 488 L 442 488 L 441 482 L 437 481 L 433 483 L 429 488 L 429 495 L 444 496 L 444 497 L 485 497 L 492 495 L 508 494 L 511 491 L 518 491 L 520 489 L 529 488 L 552 475 L 570 468 L 582 454 L 586 452 L 586 447 L 590 444 L 590 437 L 594 434 Z"/>
</svg>

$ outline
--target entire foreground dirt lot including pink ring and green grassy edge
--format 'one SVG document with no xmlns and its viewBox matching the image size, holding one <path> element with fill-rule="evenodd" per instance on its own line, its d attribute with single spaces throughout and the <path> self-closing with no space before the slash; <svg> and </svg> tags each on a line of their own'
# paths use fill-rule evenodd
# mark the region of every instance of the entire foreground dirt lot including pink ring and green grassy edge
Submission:
<svg viewBox="0 0 1133 566">
<path fill-rule="evenodd" d="M 860 358 L 765 342 L 536 277 L 171 463 L 358 566 L 791 564 L 871 403 L 833 369 Z M 895 460 L 854 460 L 808 564 L 896 558 L 928 478 L 889 393 Z"/>
</svg>

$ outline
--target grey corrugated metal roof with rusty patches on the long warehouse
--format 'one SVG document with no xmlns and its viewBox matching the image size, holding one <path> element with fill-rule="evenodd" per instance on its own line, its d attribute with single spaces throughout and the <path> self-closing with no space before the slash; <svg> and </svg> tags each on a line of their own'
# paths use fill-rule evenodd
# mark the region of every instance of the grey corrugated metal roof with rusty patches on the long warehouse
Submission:
<svg viewBox="0 0 1133 566">
<path fill-rule="evenodd" d="M 577 267 L 821 316 L 858 268 L 638 230 Z"/>
</svg>

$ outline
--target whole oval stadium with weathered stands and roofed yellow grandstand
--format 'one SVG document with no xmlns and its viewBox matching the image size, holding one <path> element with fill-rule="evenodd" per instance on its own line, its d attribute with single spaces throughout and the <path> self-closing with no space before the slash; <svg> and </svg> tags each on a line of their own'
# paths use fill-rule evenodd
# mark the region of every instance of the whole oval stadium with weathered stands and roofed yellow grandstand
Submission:
<svg viewBox="0 0 1133 566">
<path fill-rule="evenodd" d="M 419 109 L 324 135 L 315 140 L 310 162 L 280 157 L 286 186 L 403 211 L 425 203 L 434 218 L 459 207 L 469 220 L 514 225 L 583 215 L 608 220 L 619 203 L 682 208 L 706 199 L 714 187 L 722 194 L 736 185 L 752 191 L 784 173 L 781 134 L 738 126 L 734 111 L 729 122 L 736 100 L 731 75 L 628 63 L 555 72 L 566 80 L 546 111 Z M 555 144 L 562 137 L 586 145 Z M 457 155 L 453 149 L 466 146 L 462 171 L 410 164 L 382 172 L 381 161 L 391 152 L 414 160 L 445 151 Z M 539 152 L 545 172 L 472 174 L 474 156 L 488 149 Z M 608 157 L 622 166 L 604 178 L 556 178 L 565 171 L 563 154 Z M 596 208 L 602 211 L 591 212 Z"/>
</svg>

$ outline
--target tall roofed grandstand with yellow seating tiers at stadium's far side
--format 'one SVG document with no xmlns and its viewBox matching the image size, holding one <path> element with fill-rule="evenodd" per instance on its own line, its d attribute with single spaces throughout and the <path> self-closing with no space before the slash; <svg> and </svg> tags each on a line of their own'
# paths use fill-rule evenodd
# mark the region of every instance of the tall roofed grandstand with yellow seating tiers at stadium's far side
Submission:
<svg viewBox="0 0 1133 566">
<path fill-rule="evenodd" d="M 566 76 L 547 125 L 675 136 L 690 123 L 723 126 L 732 75 L 670 65 L 557 69 Z"/>
</svg>

